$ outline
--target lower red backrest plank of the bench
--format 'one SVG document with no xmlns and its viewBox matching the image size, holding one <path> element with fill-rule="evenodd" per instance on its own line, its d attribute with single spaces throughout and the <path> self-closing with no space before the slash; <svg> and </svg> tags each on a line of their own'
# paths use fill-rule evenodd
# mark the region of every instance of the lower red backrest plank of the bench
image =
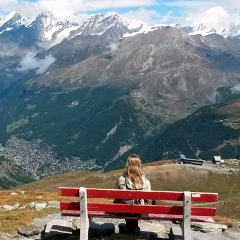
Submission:
<svg viewBox="0 0 240 240">
<path fill-rule="evenodd" d="M 79 202 L 60 202 L 61 210 L 79 211 Z M 150 214 L 171 214 L 182 215 L 182 206 L 167 205 L 128 205 L 116 203 L 88 203 L 89 211 L 113 212 L 113 213 L 150 213 Z M 215 216 L 216 208 L 192 207 L 192 216 Z"/>
</svg>

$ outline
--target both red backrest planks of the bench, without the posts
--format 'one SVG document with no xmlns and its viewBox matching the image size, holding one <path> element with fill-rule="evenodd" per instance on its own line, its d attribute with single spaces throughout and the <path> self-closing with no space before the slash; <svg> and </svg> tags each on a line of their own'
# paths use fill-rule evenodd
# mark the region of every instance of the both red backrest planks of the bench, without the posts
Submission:
<svg viewBox="0 0 240 240">
<path fill-rule="evenodd" d="M 79 188 L 60 188 L 62 196 L 79 197 Z M 217 193 L 191 192 L 192 202 L 217 202 Z M 165 201 L 183 201 L 184 192 L 169 191 L 133 191 L 115 189 L 86 189 L 87 198 L 117 198 L 117 199 L 149 199 Z M 183 215 L 183 206 L 168 205 L 128 205 L 101 202 L 88 202 L 88 211 L 91 212 L 118 212 L 118 213 L 148 213 Z M 61 202 L 61 210 L 80 211 L 78 202 Z M 192 216 L 215 216 L 216 208 L 191 207 Z"/>
</svg>

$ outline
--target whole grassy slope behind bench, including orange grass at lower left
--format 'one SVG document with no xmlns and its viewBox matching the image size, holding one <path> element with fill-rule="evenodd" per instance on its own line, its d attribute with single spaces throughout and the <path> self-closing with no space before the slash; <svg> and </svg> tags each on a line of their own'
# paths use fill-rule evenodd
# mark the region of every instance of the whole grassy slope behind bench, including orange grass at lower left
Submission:
<svg viewBox="0 0 240 240">
<path fill-rule="evenodd" d="M 240 211 L 238 211 L 240 205 L 240 173 L 227 175 L 197 171 L 190 167 L 175 165 L 174 162 L 174 160 L 166 160 L 143 164 L 143 171 L 151 181 L 152 190 L 217 192 L 219 193 L 219 200 L 224 200 L 224 204 L 217 207 L 217 215 L 240 220 Z M 11 191 L 0 191 L 0 205 L 14 205 L 15 203 L 23 205 L 32 201 L 64 200 L 66 197 L 59 196 L 59 187 L 114 188 L 116 179 L 122 172 L 123 169 L 108 173 L 72 172 L 51 176 L 18 186 Z M 13 191 L 18 194 L 11 195 L 10 193 Z M 21 221 L 25 210 L 0 212 L 2 231 L 16 231 L 19 227 L 29 224 L 32 218 L 48 214 L 49 211 L 27 210 L 26 213 L 26 219 Z M 222 218 L 220 218 L 221 221 Z"/>
</svg>

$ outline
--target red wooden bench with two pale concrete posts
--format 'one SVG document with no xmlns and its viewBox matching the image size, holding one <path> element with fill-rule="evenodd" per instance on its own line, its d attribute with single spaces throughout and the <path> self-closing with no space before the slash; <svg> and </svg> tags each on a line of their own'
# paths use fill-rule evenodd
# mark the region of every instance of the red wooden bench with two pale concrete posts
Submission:
<svg viewBox="0 0 240 240">
<path fill-rule="evenodd" d="M 191 222 L 213 222 L 214 207 L 191 206 L 192 202 L 217 202 L 217 193 L 168 192 L 168 191 L 124 191 L 115 189 L 60 188 L 62 196 L 79 197 L 77 202 L 61 202 L 63 216 L 81 216 L 80 239 L 88 239 L 89 218 L 128 218 L 142 220 L 179 221 L 184 240 L 191 240 Z M 180 206 L 127 205 L 117 203 L 87 202 L 87 198 L 150 199 L 180 201 Z M 144 217 L 127 217 L 114 213 L 142 213 Z"/>
</svg>

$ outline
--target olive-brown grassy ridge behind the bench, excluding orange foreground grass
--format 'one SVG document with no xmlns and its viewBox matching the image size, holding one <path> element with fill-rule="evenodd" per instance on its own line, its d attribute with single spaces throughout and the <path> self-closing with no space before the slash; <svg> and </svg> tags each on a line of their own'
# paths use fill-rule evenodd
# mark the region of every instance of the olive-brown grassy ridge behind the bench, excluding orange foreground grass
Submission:
<svg viewBox="0 0 240 240">
<path fill-rule="evenodd" d="M 225 201 L 225 208 L 219 208 L 218 214 L 240 219 L 240 212 L 227 212 L 226 209 L 235 209 L 235 202 L 240 201 L 240 173 L 219 174 L 208 171 L 193 170 L 172 163 L 174 161 L 157 161 L 143 164 L 143 171 L 151 181 L 152 190 L 194 192 L 216 192 L 219 200 Z M 100 172 L 73 172 L 51 176 L 37 182 L 17 187 L 25 191 L 57 192 L 59 187 L 91 187 L 114 188 L 116 179 L 123 170 L 108 173 Z M 236 201 L 232 199 L 236 198 Z M 221 211 L 220 211 L 221 210 Z"/>
</svg>

